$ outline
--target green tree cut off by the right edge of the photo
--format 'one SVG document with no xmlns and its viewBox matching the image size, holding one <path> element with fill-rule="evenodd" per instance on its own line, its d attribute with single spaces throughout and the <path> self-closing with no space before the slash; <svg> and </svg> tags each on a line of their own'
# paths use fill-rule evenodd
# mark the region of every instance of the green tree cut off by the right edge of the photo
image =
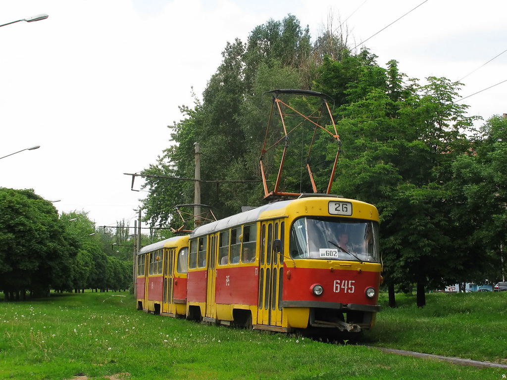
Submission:
<svg viewBox="0 0 507 380">
<path fill-rule="evenodd" d="M 453 212 L 461 230 L 465 226 L 470 232 L 463 241 L 472 252 L 467 268 L 476 269 L 476 281 L 503 280 L 506 273 L 505 154 L 507 120 L 493 116 L 473 139 L 470 151 L 453 163 L 455 194 L 460 200 L 460 207 Z"/>
</svg>

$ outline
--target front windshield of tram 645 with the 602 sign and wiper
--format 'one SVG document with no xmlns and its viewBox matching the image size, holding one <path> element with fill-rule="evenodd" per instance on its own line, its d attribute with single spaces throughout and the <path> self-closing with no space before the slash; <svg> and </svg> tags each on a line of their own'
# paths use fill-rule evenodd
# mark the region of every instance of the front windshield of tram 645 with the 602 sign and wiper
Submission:
<svg viewBox="0 0 507 380">
<path fill-rule="evenodd" d="M 357 219 L 300 218 L 291 228 L 294 259 L 378 262 L 378 223 Z"/>
</svg>

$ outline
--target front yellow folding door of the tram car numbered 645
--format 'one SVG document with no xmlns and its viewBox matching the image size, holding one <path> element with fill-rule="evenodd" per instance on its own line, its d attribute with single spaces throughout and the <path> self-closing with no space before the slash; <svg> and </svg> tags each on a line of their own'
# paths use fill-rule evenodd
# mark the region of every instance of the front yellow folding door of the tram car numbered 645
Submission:
<svg viewBox="0 0 507 380">
<path fill-rule="evenodd" d="M 273 251 L 273 241 L 275 239 L 280 239 L 280 221 L 262 222 L 259 312 L 257 318 L 259 324 L 281 326 L 283 256 Z"/>
</svg>

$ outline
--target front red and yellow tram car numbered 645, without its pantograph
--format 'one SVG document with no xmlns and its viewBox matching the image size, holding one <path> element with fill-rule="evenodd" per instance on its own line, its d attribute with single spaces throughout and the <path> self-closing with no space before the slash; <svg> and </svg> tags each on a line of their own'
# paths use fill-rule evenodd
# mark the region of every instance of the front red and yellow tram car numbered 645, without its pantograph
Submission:
<svg viewBox="0 0 507 380">
<path fill-rule="evenodd" d="M 380 311 L 378 231 L 373 205 L 316 194 L 199 226 L 187 317 L 284 332 L 370 329 Z"/>
</svg>

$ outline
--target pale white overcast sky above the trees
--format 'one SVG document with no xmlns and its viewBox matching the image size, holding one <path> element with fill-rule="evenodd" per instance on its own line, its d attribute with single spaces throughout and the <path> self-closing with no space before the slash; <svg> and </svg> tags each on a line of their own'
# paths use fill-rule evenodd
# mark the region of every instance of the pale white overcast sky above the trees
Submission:
<svg viewBox="0 0 507 380">
<path fill-rule="evenodd" d="M 0 186 L 33 188 L 59 212 L 133 225 L 147 193 L 131 177 L 169 144 L 178 105 L 201 98 L 226 43 L 293 14 L 313 37 L 330 9 L 359 43 L 424 0 L 24 0 L 0 3 Z M 355 13 L 354 13 L 355 11 Z M 463 78 L 507 50 L 507 2 L 428 0 L 366 42 L 411 78 Z M 350 16 L 350 17 L 349 17 Z M 507 53 L 470 74 L 462 96 L 507 80 Z M 465 99 L 470 115 L 507 112 L 507 82 Z M 189 158 L 193 159 L 193 158 Z M 136 178 L 134 188 L 142 180 Z"/>
</svg>

